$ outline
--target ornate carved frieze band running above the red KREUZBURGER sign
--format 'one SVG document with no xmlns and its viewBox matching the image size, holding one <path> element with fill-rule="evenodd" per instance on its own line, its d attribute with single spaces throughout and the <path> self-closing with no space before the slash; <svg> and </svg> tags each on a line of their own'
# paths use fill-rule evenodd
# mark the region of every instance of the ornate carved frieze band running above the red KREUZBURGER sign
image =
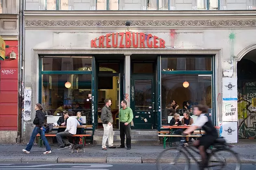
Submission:
<svg viewBox="0 0 256 170">
<path fill-rule="evenodd" d="M 26 27 L 124 27 L 127 20 L 29 19 Z M 129 20 L 132 27 L 256 27 L 256 19 Z"/>
</svg>

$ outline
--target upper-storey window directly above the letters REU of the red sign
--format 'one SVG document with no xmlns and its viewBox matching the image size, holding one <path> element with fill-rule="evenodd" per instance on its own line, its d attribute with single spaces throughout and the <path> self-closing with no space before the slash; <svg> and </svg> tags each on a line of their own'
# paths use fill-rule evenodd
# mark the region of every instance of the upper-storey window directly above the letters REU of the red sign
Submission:
<svg viewBox="0 0 256 170">
<path fill-rule="evenodd" d="M 118 0 L 97 0 L 97 10 L 118 10 Z"/>
</svg>

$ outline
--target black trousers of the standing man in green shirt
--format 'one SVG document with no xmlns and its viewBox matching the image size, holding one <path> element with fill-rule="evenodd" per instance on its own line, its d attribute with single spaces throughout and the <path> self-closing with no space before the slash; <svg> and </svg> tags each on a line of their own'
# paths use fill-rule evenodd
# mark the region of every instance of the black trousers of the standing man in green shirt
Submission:
<svg viewBox="0 0 256 170">
<path fill-rule="evenodd" d="M 131 147 L 131 124 L 124 125 L 120 122 L 120 138 L 121 138 L 121 147 L 124 147 L 124 135 L 126 135 L 126 147 Z"/>
</svg>

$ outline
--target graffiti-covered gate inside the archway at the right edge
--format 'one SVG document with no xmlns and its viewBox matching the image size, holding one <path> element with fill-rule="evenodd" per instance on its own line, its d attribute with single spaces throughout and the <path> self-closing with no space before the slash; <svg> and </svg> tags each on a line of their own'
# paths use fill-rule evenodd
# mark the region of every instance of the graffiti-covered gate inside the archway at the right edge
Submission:
<svg viewBox="0 0 256 170">
<path fill-rule="evenodd" d="M 243 82 L 238 88 L 239 138 L 256 136 L 256 82 Z"/>
</svg>

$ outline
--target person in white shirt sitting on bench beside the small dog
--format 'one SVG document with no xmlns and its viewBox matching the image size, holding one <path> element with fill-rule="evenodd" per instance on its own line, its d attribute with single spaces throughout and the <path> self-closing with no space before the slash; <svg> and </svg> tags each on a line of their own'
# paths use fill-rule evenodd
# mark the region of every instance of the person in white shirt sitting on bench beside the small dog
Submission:
<svg viewBox="0 0 256 170">
<path fill-rule="evenodd" d="M 65 149 L 66 147 L 69 147 L 71 145 L 67 138 L 75 135 L 77 126 L 80 125 L 76 117 L 72 115 L 73 112 L 68 112 L 69 118 L 67 119 L 67 127 L 65 129 L 65 132 L 59 132 L 56 134 L 56 138 L 59 144 L 59 147 L 57 149 Z"/>
</svg>

